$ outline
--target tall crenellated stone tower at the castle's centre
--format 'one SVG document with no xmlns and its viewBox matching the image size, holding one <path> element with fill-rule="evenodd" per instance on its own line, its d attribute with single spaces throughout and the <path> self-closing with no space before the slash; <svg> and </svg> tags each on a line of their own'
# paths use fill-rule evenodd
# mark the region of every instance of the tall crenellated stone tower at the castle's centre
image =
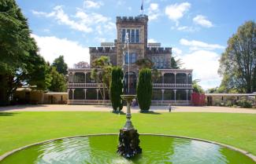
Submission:
<svg viewBox="0 0 256 164">
<path fill-rule="evenodd" d="M 129 38 L 130 71 L 137 72 L 135 61 L 143 59 L 147 53 L 147 22 L 148 16 L 117 16 L 117 65 L 123 66 L 125 35 Z M 127 71 L 128 55 L 125 56 L 125 71 Z"/>
</svg>

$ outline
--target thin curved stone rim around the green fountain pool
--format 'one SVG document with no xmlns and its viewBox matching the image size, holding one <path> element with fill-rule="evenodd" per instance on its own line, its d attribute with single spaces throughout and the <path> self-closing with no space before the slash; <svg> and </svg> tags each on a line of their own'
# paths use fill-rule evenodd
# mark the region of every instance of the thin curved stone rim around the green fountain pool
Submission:
<svg viewBox="0 0 256 164">
<path fill-rule="evenodd" d="M 13 149 L 12 151 L 8 151 L 5 154 L 0 155 L 0 162 L 2 162 L 4 159 L 6 159 L 9 155 L 13 155 L 17 151 L 22 151 L 25 148 L 36 146 L 38 144 L 45 144 L 47 142 L 51 142 L 51 141 L 54 141 L 54 140 L 63 140 L 63 139 L 69 139 L 69 138 L 107 136 L 107 135 L 117 135 L 117 137 L 118 137 L 118 133 L 98 133 L 98 134 L 78 135 L 78 136 L 72 136 L 72 137 L 59 137 L 59 138 L 54 138 L 54 139 L 51 139 L 51 140 L 43 140 L 41 142 L 37 142 L 37 143 L 34 143 L 34 144 L 28 144 L 24 147 Z M 140 135 L 161 136 L 161 137 L 176 137 L 176 138 L 184 138 L 184 139 L 190 139 L 190 140 L 203 141 L 203 142 L 207 142 L 207 143 L 210 143 L 210 144 L 217 144 L 217 145 L 222 146 L 224 148 L 229 148 L 232 151 L 238 151 L 239 153 L 242 153 L 243 155 L 246 155 L 247 157 L 252 159 L 254 162 L 256 162 L 256 155 L 252 155 L 249 151 L 245 151 L 243 149 L 236 148 L 236 147 L 233 147 L 233 146 L 228 145 L 228 144 L 222 144 L 220 142 L 216 142 L 216 141 L 212 141 L 212 140 L 204 140 L 204 139 L 200 139 L 200 138 L 193 138 L 193 137 L 186 137 L 186 136 L 176 136 L 176 135 L 169 135 L 169 134 L 155 134 L 155 133 L 140 133 Z"/>
</svg>

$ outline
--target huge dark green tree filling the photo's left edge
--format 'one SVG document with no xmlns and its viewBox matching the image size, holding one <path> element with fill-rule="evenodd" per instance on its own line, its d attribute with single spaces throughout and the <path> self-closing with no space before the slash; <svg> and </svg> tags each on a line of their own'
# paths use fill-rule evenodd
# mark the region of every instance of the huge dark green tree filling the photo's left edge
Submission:
<svg viewBox="0 0 256 164">
<path fill-rule="evenodd" d="M 0 104 L 9 104 L 21 86 L 46 89 L 49 67 L 38 54 L 34 38 L 14 0 L 0 1 Z"/>
</svg>

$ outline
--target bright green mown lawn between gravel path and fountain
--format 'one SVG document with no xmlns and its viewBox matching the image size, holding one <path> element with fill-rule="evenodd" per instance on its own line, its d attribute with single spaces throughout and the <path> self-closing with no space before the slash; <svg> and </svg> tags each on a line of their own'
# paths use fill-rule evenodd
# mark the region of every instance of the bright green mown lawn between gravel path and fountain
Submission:
<svg viewBox="0 0 256 164">
<path fill-rule="evenodd" d="M 0 155 L 42 140 L 91 133 L 118 133 L 125 115 L 110 112 L 0 112 Z M 256 155 L 256 115 L 224 113 L 133 114 L 139 133 L 214 140 Z"/>
</svg>

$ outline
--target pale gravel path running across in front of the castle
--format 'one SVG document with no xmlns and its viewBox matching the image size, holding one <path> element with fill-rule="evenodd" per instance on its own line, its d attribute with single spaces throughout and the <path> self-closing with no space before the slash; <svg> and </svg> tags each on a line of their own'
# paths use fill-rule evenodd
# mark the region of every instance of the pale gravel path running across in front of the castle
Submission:
<svg viewBox="0 0 256 164">
<path fill-rule="evenodd" d="M 218 113 L 250 113 L 256 114 L 256 109 L 227 108 L 227 107 L 194 107 L 194 106 L 173 106 L 172 112 L 218 112 Z M 65 104 L 42 104 L 42 105 L 15 105 L 2 107 L 0 111 L 112 111 L 110 106 L 104 105 L 65 105 Z M 126 111 L 124 107 L 123 111 Z M 167 106 L 152 106 L 150 111 L 169 112 Z M 132 113 L 139 112 L 138 107 L 132 107 Z"/>
</svg>

